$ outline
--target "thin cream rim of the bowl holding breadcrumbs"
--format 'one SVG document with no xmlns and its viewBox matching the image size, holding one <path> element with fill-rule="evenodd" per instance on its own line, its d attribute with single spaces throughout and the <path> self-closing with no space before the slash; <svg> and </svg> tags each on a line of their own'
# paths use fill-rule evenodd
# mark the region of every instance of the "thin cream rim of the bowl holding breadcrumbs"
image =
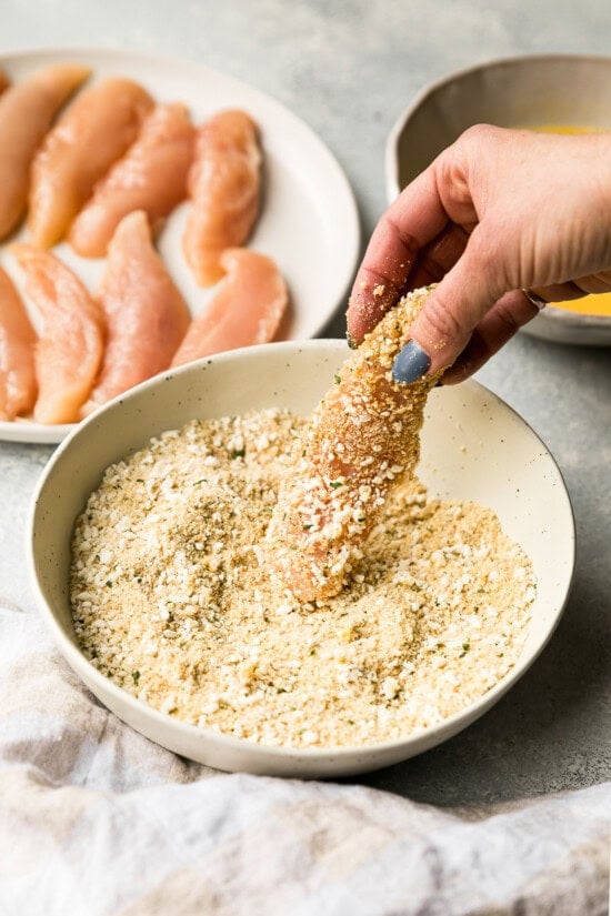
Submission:
<svg viewBox="0 0 611 916">
<path fill-rule="evenodd" d="M 149 706 L 143 701 L 138 699 L 128 691 L 123 689 L 123 687 L 120 687 L 118 684 L 116 684 L 112 680 L 103 676 L 93 665 L 91 665 L 91 663 L 84 657 L 80 647 L 74 642 L 72 642 L 72 640 L 68 636 L 63 626 L 61 625 L 60 621 L 56 616 L 50 604 L 48 603 L 41 583 L 39 581 L 37 572 L 37 548 L 34 547 L 34 542 L 37 540 L 37 516 L 41 494 L 46 489 L 48 480 L 52 475 L 56 465 L 62 461 L 63 454 L 71 449 L 74 440 L 81 436 L 91 423 L 99 423 L 100 420 L 104 422 L 103 416 L 117 410 L 126 401 L 133 400 L 147 390 L 154 389 L 158 385 L 161 385 L 164 382 L 170 381 L 171 379 L 177 378 L 179 375 L 196 374 L 204 365 L 209 368 L 213 363 L 222 364 L 228 361 L 243 359 L 244 356 L 248 358 L 249 355 L 261 355 L 264 352 L 269 352 L 270 348 L 273 348 L 279 352 L 322 349 L 323 351 L 334 353 L 339 350 L 340 345 L 341 348 L 345 348 L 345 341 L 341 339 L 309 339 L 303 341 L 279 341 L 276 343 L 266 343 L 254 346 L 241 348 L 239 350 L 233 351 L 226 351 L 223 353 L 219 353 L 213 356 L 204 358 L 193 363 L 186 364 L 183 366 L 178 368 L 177 370 L 172 370 L 171 372 L 161 373 L 157 376 L 153 376 L 152 379 L 141 382 L 139 385 L 136 385 L 134 387 L 130 389 L 124 394 L 121 394 L 112 399 L 107 404 L 99 407 L 97 411 L 90 414 L 83 422 L 78 424 L 76 429 L 70 432 L 70 434 L 63 440 L 63 442 L 60 443 L 58 449 L 53 452 L 50 460 L 46 464 L 42 474 L 38 480 L 38 483 L 36 485 L 34 492 L 30 501 L 30 507 L 26 524 L 27 567 L 30 585 L 34 593 L 36 602 L 38 604 L 38 607 L 41 612 L 41 616 L 48 630 L 50 630 L 53 636 L 56 646 L 59 650 L 60 654 L 63 656 L 63 658 L 69 663 L 71 668 L 77 673 L 79 678 L 86 684 L 86 686 L 87 680 L 90 680 L 93 684 L 96 684 L 97 687 L 100 688 L 102 693 L 109 692 L 112 698 L 117 701 L 119 704 L 127 704 L 130 712 L 136 714 L 136 716 L 143 716 L 149 721 L 157 723 L 164 729 L 171 728 L 176 732 L 176 734 L 183 735 L 186 738 L 191 738 L 196 742 L 212 742 L 219 748 L 224 748 L 227 751 L 244 752 L 246 749 L 248 749 L 248 753 L 252 757 L 257 757 L 260 761 L 269 759 L 270 755 L 277 762 L 290 763 L 291 761 L 293 761 L 303 764 L 315 764 L 317 762 L 323 764 L 324 762 L 329 762 L 331 759 L 334 763 L 337 763 L 338 761 L 341 762 L 345 758 L 348 765 L 349 761 L 353 759 L 355 755 L 358 755 L 360 759 L 369 757 L 375 758 L 378 755 L 384 755 L 387 752 L 399 751 L 402 748 L 407 751 L 413 744 L 431 739 L 427 742 L 425 747 L 421 748 L 420 751 L 417 749 L 414 752 L 415 755 L 441 744 L 443 741 L 445 741 L 444 733 L 449 732 L 449 737 L 458 734 L 460 731 L 462 731 L 462 728 L 465 728 L 468 725 L 473 723 L 492 705 L 494 705 L 497 699 L 504 695 L 528 672 L 528 670 L 539 657 L 541 652 L 545 648 L 560 622 L 560 618 L 562 617 L 569 596 L 571 594 L 571 587 L 574 578 L 577 543 L 575 519 L 573 507 L 571 504 L 571 500 L 562 472 L 558 465 L 558 462 L 555 461 L 554 456 L 552 455 L 545 443 L 541 440 L 541 437 L 532 429 L 528 421 L 524 420 L 524 417 L 518 413 L 517 410 L 514 410 L 510 404 L 503 401 L 498 394 L 490 391 L 490 389 L 485 387 L 480 382 L 475 382 L 473 379 L 468 379 L 467 381 L 462 382 L 461 385 L 467 385 L 472 391 L 483 392 L 485 396 L 491 399 L 497 405 L 500 404 L 502 407 L 507 409 L 511 414 L 513 414 L 514 417 L 517 417 L 520 421 L 521 424 L 523 424 L 525 432 L 529 435 L 531 435 L 538 443 L 538 445 L 542 449 L 545 456 L 551 462 L 552 470 L 557 474 L 559 483 L 559 492 L 557 495 L 559 495 L 562 499 L 564 503 L 564 509 L 568 510 L 568 517 L 570 521 L 570 531 L 568 532 L 568 546 L 570 547 L 570 568 L 568 570 L 567 584 L 564 587 L 562 602 L 557 607 L 553 618 L 550 621 L 547 631 L 539 640 L 539 642 L 533 647 L 531 647 L 529 654 L 524 656 L 524 648 L 522 648 L 522 653 L 518 657 L 518 661 L 514 664 L 514 666 L 504 675 L 504 677 L 497 682 L 497 684 L 494 684 L 493 687 L 491 687 L 484 694 L 479 696 L 473 703 L 468 704 L 463 708 L 453 713 L 451 716 L 441 719 L 434 725 L 417 728 L 402 738 L 392 738 L 383 742 L 377 742 L 375 744 L 364 745 L 332 745 L 327 747 L 304 748 L 296 748 L 284 745 L 276 746 L 254 742 L 250 738 L 234 737 L 233 735 L 228 735 L 222 732 L 218 732 L 214 728 L 208 726 L 193 725 L 191 723 L 173 718 L 172 716 L 166 713 L 161 713 L 154 707 Z M 82 674 L 83 670 L 87 672 L 87 677 Z M 97 691 L 92 692 L 99 698 L 99 694 L 97 693 Z M 117 713 L 109 709 L 103 699 L 101 699 L 100 702 L 104 705 L 104 708 L 112 713 L 112 715 L 117 715 L 118 718 L 124 722 L 122 716 L 119 716 Z M 133 726 L 130 725 L 129 727 Z M 372 766 L 371 768 L 374 767 Z M 351 771 L 347 769 L 345 772 Z"/>
</svg>

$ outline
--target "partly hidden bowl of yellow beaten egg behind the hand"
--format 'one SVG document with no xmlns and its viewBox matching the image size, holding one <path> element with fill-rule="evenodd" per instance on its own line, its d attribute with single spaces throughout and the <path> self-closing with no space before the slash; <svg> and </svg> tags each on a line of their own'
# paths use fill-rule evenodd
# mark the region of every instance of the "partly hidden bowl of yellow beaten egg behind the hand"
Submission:
<svg viewBox="0 0 611 916">
<path fill-rule="evenodd" d="M 611 58 L 578 54 L 495 60 L 444 77 L 415 97 L 389 135 L 389 202 L 473 124 L 611 131 L 610 85 Z M 611 345 L 611 293 L 553 303 L 522 331 L 559 343 Z"/>
</svg>

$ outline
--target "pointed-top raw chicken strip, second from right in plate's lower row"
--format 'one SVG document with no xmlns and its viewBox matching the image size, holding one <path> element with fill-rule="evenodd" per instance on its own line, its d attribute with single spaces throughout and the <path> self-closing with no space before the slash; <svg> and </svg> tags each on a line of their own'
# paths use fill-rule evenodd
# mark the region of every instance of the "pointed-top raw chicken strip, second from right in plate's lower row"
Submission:
<svg viewBox="0 0 611 916">
<path fill-rule="evenodd" d="M 99 291 L 108 325 L 100 378 L 83 414 L 170 365 L 190 313 L 151 241 L 142 210 L 124 217 Z"/>
</svg>

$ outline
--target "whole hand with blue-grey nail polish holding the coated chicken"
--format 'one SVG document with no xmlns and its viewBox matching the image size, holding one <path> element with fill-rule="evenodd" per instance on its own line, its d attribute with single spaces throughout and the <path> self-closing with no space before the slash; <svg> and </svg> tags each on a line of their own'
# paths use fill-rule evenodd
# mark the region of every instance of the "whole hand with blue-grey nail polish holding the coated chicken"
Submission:
<svg viewBox="0 0 611 916">
<path fill-rule="evenodd" d="M 375 228 L 348 308 L 360 343 L 409 290 L 439 282 L 394 378 L 478 370 L 547 302 L 611 290 L 611 137 L 478 125 L 409 184 Z"/>
</svg>

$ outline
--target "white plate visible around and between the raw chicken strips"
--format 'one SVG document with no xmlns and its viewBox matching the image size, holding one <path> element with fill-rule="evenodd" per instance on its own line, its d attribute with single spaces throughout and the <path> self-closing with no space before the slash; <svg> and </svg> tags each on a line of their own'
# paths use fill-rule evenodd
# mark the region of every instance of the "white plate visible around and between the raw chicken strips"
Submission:
<svg viewBox="0 0 611 916">
<path fill-rule="evenodd" d="M 249 246 L 274 258 L 290 289 L 290 313 L 278 338 L 302 340 L 319 334 L 347 293 L 357 265 L 360 231 L 345 175 L 313 131 L 269 95 L 201 64 L 126 51 L 71 48 L 0 56 L 0 67 L 17 81 L 38 68 L 67 60 L 90 66 L 91 80 L 130 77 L 158 101 L 182 101 L 196 123 L 229 107 L 243 108 L 254 118 L 264 149 L 264 199 Z M 159 248 L 197 313 L 211 293 L 196 285 L 182 256 L 180 240 L 187 208 L 183 204 L 170 217 Z M 96 289 L 103 268 L 101 259 L 78 258 L 66 243 L 53 251 L 91 290 Z M 21 271 L 7 244 L 0 246 L 0 263 L 23 292 Z M 0 422 L 0 440 L 61 442 L 70 429 L 29 421 Z"/>
</svg>

